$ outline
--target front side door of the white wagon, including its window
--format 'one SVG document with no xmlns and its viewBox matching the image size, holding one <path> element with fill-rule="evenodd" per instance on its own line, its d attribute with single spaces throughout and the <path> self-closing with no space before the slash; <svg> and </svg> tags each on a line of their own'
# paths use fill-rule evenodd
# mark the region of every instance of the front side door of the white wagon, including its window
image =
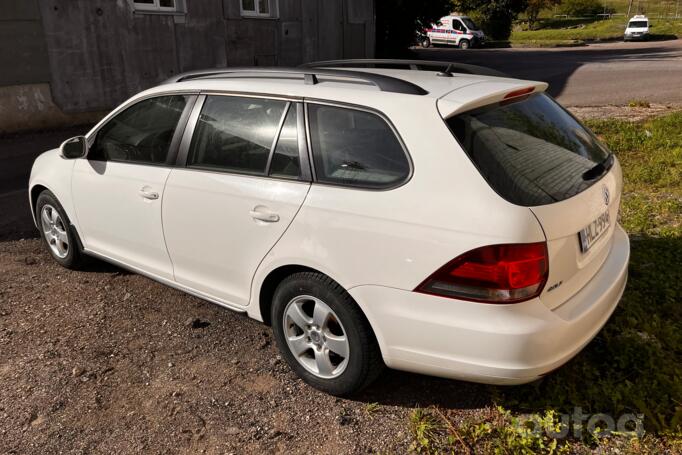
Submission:
<svg viewBox="0 0 682 455">
<path fill-rule="evenodd" d="M 143 99 L 88 138 L 88 155 L 76 160 L 71 181 L 87 250 L 173 278 L 161 227 L 161 205 L 195 98 L 165 95 Z"/>
</svg>

